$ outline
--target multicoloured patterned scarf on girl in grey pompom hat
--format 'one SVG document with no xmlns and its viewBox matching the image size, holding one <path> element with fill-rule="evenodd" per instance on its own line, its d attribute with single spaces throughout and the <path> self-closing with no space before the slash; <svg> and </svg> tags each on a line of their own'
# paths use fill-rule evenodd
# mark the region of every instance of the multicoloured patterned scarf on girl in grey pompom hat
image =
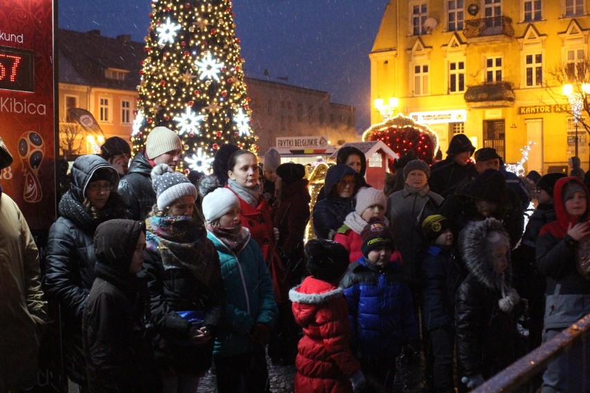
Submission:
<svg viewBox="0 0 590 393">
<path fill-rule="evenodd" d="M 206 237 L 202 223 L 190 216 L 148 217 L 147 250 L 158 253 L 165 269 L 182 268 L 208 285 L 217 261 L 217 250 Z"/>
</svg>

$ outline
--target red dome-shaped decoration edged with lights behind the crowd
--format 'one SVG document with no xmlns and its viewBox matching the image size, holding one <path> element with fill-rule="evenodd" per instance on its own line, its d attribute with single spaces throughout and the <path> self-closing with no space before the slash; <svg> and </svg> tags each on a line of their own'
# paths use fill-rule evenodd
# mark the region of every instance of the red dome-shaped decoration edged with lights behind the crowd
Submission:
<svg viewBox="0 0 590 393">
<path fill-rule="evenodd" d="M 438 150 L 438 136 L 426 125 L 398 114 L 371 126 L 363 134 L 363 140 L 382 140 L 398 156 L 413 150 L 420 160 L 431 164 Z"/>
</svg>

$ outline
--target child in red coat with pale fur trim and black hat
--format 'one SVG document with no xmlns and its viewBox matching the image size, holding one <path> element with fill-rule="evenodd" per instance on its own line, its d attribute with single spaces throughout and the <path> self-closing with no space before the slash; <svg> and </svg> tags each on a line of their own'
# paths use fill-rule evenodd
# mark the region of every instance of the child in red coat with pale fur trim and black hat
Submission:
<svg viewBox="0 0 590 393">
<path fill-rule="evenodd" d="M 305 255 L 311 275 L 289 291 L 295 320 L 305 333 L 295 360 L 295 392 L 360 392 L 365 378 L 350 350 L 348 304 L 338 288 L 348 253 L 335 241 L 312 239 Z"/>
</svg>

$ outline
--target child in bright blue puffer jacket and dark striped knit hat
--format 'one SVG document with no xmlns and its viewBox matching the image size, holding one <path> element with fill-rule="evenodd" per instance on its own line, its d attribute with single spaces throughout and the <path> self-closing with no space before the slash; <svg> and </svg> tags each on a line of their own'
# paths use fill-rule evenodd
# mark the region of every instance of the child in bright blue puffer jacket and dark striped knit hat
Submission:
<svg viewBox="0 0 590 393">
<path fill-rule="evenodd" d="M 340 282 L 348 301 L 352 348 L 368 381 L 391 390 L 402 344 L 418 338 L 409 286 L 392 263 L 393 235 L 382 219 L 361 231 L 363 256 Z"/>
</svg>

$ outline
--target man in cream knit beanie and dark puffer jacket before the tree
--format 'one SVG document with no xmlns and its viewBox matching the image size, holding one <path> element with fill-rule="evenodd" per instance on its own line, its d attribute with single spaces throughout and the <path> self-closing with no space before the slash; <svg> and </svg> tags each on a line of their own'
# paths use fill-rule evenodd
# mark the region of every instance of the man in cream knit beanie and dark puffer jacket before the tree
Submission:
<svg viewBox="0 0 590 393">
<path fill-rule="evenodd" d="M 174 169 L 181 151 L 182 143 L 175 131 L 166 127 L 152 129 L 145 140 L 145 150 L 133 158 L 129 172 L 119 183 L 118 193 L 127 206 L 129 219 L 145 220 L 156 203 L 150 177 L 152 168 L 158 164 L 167 164 Z"/>
</svg>

